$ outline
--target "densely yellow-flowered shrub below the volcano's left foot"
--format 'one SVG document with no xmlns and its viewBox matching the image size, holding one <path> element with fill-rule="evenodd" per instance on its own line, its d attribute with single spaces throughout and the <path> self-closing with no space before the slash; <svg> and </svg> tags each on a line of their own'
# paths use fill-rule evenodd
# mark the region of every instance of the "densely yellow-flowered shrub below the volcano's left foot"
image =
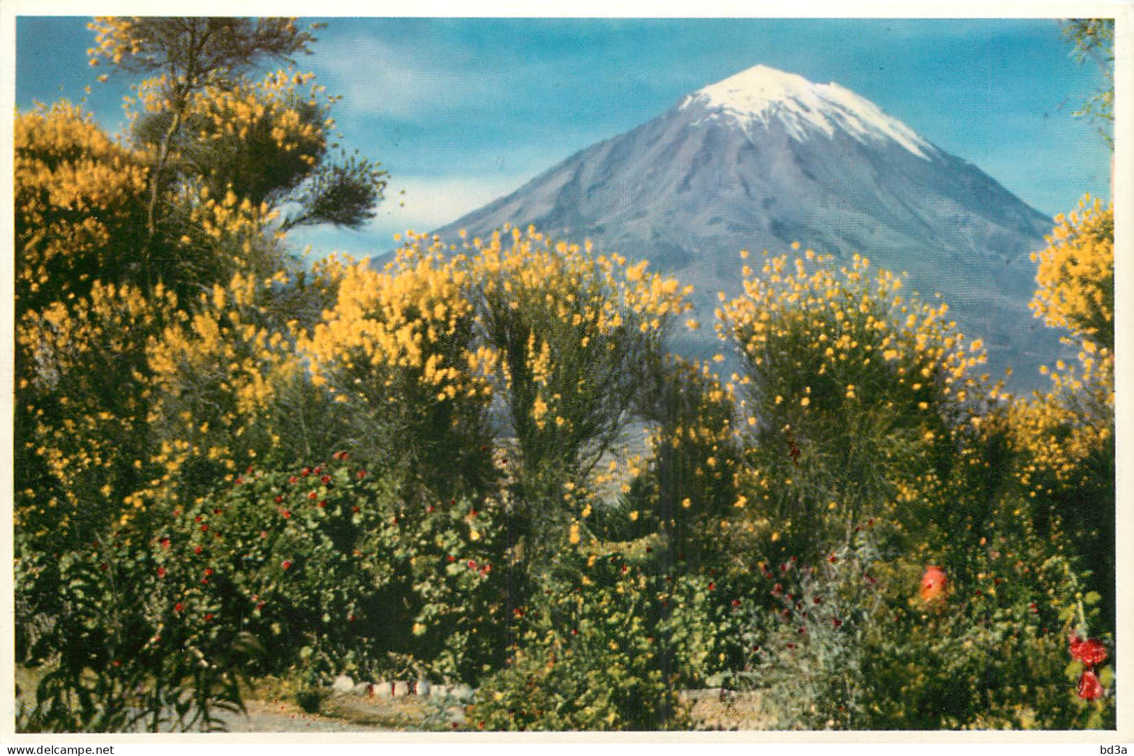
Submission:
<svg viewBox="0 0 1134 756">
<path fill-rule="evenodd" d="M 496 358 L 474 343 L 463 261 L 414 237 L 382 271 L 363 261 L 338 274 L 335 306 L 298 349 L 312 380 L 349 408 L 356 448 L 414 486 L 480 481 Z"/>
</svg>

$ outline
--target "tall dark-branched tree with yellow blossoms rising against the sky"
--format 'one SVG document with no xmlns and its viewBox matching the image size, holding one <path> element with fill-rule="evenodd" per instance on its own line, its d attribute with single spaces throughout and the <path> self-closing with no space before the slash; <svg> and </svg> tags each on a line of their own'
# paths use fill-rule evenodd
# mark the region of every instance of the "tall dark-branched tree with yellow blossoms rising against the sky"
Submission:
<svg viewBox="0 0 1134 756">
<path fill-rule="evenodd" d="M 265 214 L 294 207 L 281 230 L 303 224 L 357 227 L 373 216 L 386 187 L 378 163 L 328 158 L 333 120 L 311 75 L 248 73 L 264 60 L 294 65 L 310 53 L 314 31 L 294 18 L 99 17 L 90 24 L 91 63 L 150 74 L 137 91 L 143 112 L 134 136 L 149 155 L 142 280 L 163 278 L 180 238 L 186 186 L 238 201 Z M 107 75 L 100 76 L 105 79 Z"/>
</svg>

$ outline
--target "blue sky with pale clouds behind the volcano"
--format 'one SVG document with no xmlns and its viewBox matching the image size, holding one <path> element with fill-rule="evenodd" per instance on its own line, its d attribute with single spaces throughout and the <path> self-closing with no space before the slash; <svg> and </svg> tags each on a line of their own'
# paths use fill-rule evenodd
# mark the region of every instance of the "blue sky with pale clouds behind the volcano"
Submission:
<svg viewBox="0 0 1134 756">
<path fill-rule="evenodd" d="M 86 20 L 17 20 L 16 104 L 91 85 L 115 130 L 127 82 L 94 82 Z M 319 252 L 380 252 L 447 223 L 756 63 L 838 82 L 1044 213 L 1109 197 L 1110 152 L 1072 116 L 1102 77 L 1053 19 L 305 20 L 329 24 L 299 65 L 342 95 L 344 145 L 391 173 L 365 230 L 299 236 Z"/>
</svg>

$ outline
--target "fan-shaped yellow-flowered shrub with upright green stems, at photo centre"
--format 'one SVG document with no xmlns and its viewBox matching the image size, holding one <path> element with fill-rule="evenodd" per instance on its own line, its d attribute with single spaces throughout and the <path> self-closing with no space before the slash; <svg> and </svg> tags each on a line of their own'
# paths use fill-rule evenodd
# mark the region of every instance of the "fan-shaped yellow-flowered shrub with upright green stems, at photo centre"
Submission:
<svg viewBox="0 0 1134 756">
<path fill-rule="evenodd" d="M 632 265 L 533 228 L 505 227 L 464 247 L 483 340 L 499 355 L 523 495 L 558 496 L 618 440 L 692 288 L 648 272 L 645 261 Z"/>
</svg>

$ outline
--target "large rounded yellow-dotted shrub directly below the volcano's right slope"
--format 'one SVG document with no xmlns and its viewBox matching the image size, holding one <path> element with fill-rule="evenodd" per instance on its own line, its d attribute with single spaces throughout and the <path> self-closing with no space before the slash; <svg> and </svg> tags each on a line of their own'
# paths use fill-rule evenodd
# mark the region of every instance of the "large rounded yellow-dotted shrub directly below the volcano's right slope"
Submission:
<svg viewBox="0 0 1134 756">
<path fill-rule="evenodd" d="M 908 509 L 949 462 L 951 428 L 978 398 L 981 341 L 966 345 L 947 305 L 904 297 L 900 278 L 858 255 L 837 270 L 811 250 L 765 256 L 759 275 L 743 272 L 718 333 L 747 366 L 741 491 L 771 518 L 756 523 L 801 549 Z"/>
</svg>

